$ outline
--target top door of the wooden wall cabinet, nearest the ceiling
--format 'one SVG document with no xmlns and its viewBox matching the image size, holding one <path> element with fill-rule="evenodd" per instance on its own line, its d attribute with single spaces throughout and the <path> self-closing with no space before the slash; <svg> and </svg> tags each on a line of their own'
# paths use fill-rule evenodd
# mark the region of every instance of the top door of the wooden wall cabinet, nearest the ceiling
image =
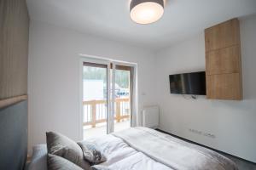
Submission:
<svg viewBox="0 0 256 170">
<path fill-rule="evenodd" d="M 206 52 L 226 48 L 240 42 L 239 21 L 228 20 L 205 30 Z"/>
</svg>

